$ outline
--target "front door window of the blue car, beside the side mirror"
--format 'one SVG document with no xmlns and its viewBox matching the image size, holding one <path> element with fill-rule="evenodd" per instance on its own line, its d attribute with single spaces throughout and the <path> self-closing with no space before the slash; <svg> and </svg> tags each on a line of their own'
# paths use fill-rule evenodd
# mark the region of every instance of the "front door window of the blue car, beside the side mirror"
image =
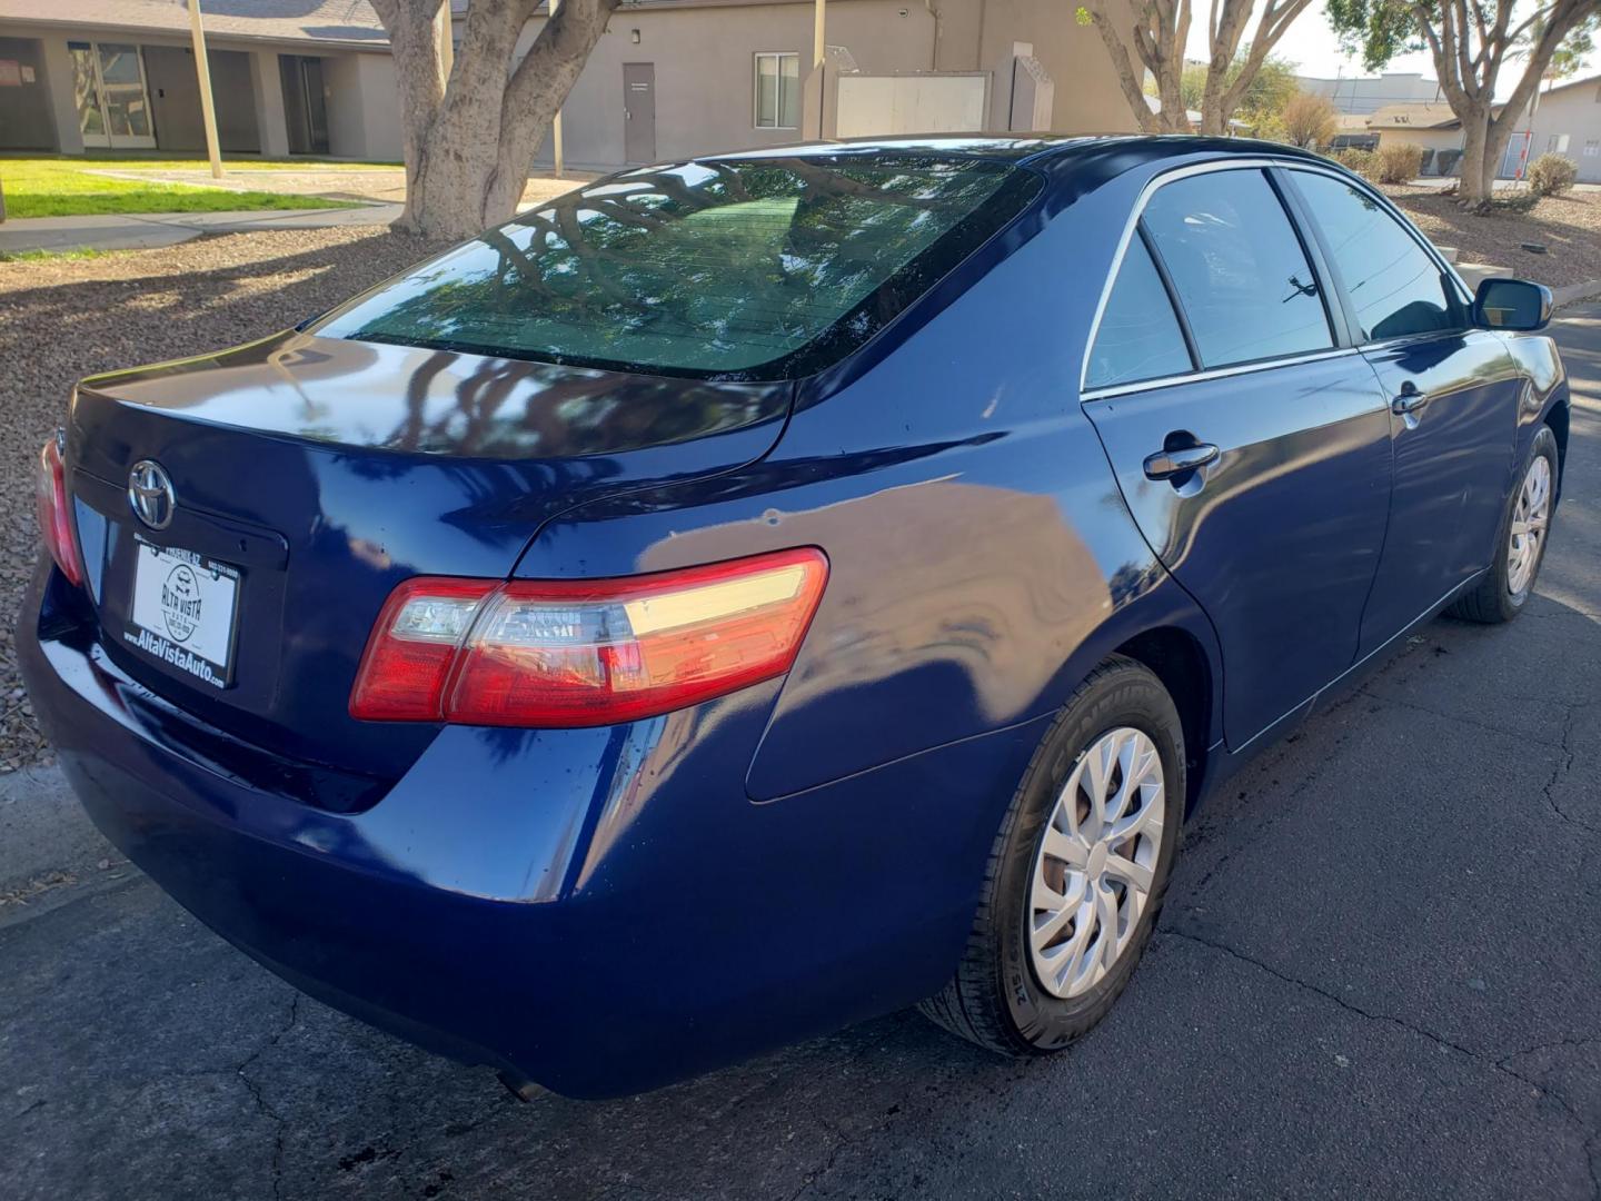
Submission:
<svg viewBox="0 0 1601 1201">
<path fill-rule="evenodd" d="M 1364 338 L 1460 325 L 1446 301 L 1439 267 L 1377 200 L 1327 175 L 1297 171 L 1295 183 L 1356 306 Z"/>
</svg>

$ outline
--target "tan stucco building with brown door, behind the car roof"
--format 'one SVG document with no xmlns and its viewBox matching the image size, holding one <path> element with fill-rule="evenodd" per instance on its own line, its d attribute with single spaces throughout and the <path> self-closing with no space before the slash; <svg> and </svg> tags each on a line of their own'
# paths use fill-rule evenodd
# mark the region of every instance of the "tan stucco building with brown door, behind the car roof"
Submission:
<svg viewBox="0 0 1601 1201">
<path fill-rule="evenodd" d="M 455 0 L 458 30 L 471 0 Z M 818 133 L 1135 128 L 1093 29 L 1061 0 L 812 0 L 618 8 L 564 109 L 567 162 L 612 167 Z M 536 16 L 524 45 L 544 24 Z M 549 139 L 540 160 L 549 162 Z"/>
</svg>

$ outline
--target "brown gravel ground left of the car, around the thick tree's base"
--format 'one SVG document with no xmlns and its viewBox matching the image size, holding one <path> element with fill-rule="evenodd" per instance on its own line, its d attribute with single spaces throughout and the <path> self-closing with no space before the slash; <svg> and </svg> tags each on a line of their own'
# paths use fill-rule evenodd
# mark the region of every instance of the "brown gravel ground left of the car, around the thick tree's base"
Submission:
<svg viewBox="0 0 1601 1201">
<path fill-rule="evenodd" d="M 0 770 L 48 757 L 11 645 L 38 548 L 34 456 L 74 381 L 282 330 L 437 247 L 386 229 L 232 234 L 102 258 L 0 263 Z"/>
</svg>

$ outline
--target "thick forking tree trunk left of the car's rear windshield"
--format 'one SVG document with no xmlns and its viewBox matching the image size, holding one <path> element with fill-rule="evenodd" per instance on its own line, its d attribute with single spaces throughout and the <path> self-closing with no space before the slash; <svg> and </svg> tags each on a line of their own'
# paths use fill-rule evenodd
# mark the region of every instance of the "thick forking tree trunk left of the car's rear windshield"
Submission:
<svg viewBox="0 0 1601 1201">
<path fill-rule="evenodd" d="M 618 0 L 567 0 L 514 67 L 535 3 L 472 0 L 447 86 L 439 0 L 373 0 L 400 86 L 407 202 L 395 229 L 459 240 L 516 216 L 544 130 Z"/>
</svg>

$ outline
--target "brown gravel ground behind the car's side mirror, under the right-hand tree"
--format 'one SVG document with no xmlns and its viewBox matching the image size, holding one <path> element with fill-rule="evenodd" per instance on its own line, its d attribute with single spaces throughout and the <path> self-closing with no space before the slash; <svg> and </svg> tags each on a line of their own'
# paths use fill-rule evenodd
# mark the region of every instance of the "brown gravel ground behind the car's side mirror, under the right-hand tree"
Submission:
<svg viewBox="0 0 1601 1201">
<path fill-rule="evenodd" d="M 1385 192 L 1436 243 L 1457 247 L 1460 263 L 1507 267 L 1551 288 L 1601 279 L 1601 194 L 1548 195 L 1527 213 L 1497 208 L 1476 216 L 1434 187 Z M 1547 253 L 1519 250 L 1521 242 L 1540 242 Z"/>
</svg>

